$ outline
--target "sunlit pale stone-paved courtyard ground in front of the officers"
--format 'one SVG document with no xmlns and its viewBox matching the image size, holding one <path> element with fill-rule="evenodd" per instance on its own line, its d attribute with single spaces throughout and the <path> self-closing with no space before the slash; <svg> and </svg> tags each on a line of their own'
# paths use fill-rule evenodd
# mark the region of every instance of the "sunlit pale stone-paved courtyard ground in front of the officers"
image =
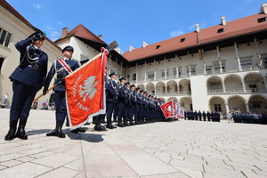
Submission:
<svg viewBox="0 0 267 178">
<path fill-rule="evenodd" d="M 54 111 L 31 110 L 28 140 L 4 141 L 9 109 L 0 109 L 0 177 L 267 177 L 266 125 L 174 121 L 107 132 L 46 137 Z"/>
</svg>

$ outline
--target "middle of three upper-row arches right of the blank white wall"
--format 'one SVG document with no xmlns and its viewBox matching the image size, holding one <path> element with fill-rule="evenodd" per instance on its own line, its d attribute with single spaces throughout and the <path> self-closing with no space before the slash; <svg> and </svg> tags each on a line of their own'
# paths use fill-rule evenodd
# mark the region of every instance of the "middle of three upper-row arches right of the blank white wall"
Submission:
<svg viewBox="0 0 267 178">
<path fill-rule="evenodd" d="M 224 85 L 226 93 L 243 92 L 242 78 L 239 75 L 230 74 L 224 77 Z"/>
</svg>

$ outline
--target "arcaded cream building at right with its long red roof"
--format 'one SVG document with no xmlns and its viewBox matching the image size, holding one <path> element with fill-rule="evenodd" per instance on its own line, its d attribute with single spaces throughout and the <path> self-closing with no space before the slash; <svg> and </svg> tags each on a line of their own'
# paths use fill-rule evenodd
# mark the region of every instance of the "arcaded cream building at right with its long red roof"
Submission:
<svg viewBox="0 0 267 178">
<path fill-rule="evenodd" d="M 123 56 L 128 80 L 187 110 L 267 111 L 267 4 L 261 12 L 200 29 Z"/>
</svg>

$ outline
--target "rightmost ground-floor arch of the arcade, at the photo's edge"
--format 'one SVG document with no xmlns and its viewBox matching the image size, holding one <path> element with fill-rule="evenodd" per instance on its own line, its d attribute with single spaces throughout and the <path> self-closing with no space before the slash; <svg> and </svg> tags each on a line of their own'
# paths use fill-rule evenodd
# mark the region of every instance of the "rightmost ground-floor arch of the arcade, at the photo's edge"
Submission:
<svg viewBox="0 0 267 178">
<path fill-rule="evenodd" d="M 261 94 L 254 94 L 247 100 L 249 110 L 252 112 L 266 112 L 267 111 L 267 98 Z"/>
</svg>

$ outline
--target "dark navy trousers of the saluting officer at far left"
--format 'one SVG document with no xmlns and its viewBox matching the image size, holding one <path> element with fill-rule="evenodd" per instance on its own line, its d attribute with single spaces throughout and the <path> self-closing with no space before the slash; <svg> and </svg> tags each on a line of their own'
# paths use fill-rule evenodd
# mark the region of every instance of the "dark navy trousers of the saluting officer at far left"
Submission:
<svg viewBox="0 0 267 178">
<path fill-rule="evenodd" d="M 12 90 L 13 96 L 12 106 L 10 109 L 10 119 L 27 119 L 32 101 L 34 101 L 39 89 L 14 80 L 12 83 Z"/>
</svg>

